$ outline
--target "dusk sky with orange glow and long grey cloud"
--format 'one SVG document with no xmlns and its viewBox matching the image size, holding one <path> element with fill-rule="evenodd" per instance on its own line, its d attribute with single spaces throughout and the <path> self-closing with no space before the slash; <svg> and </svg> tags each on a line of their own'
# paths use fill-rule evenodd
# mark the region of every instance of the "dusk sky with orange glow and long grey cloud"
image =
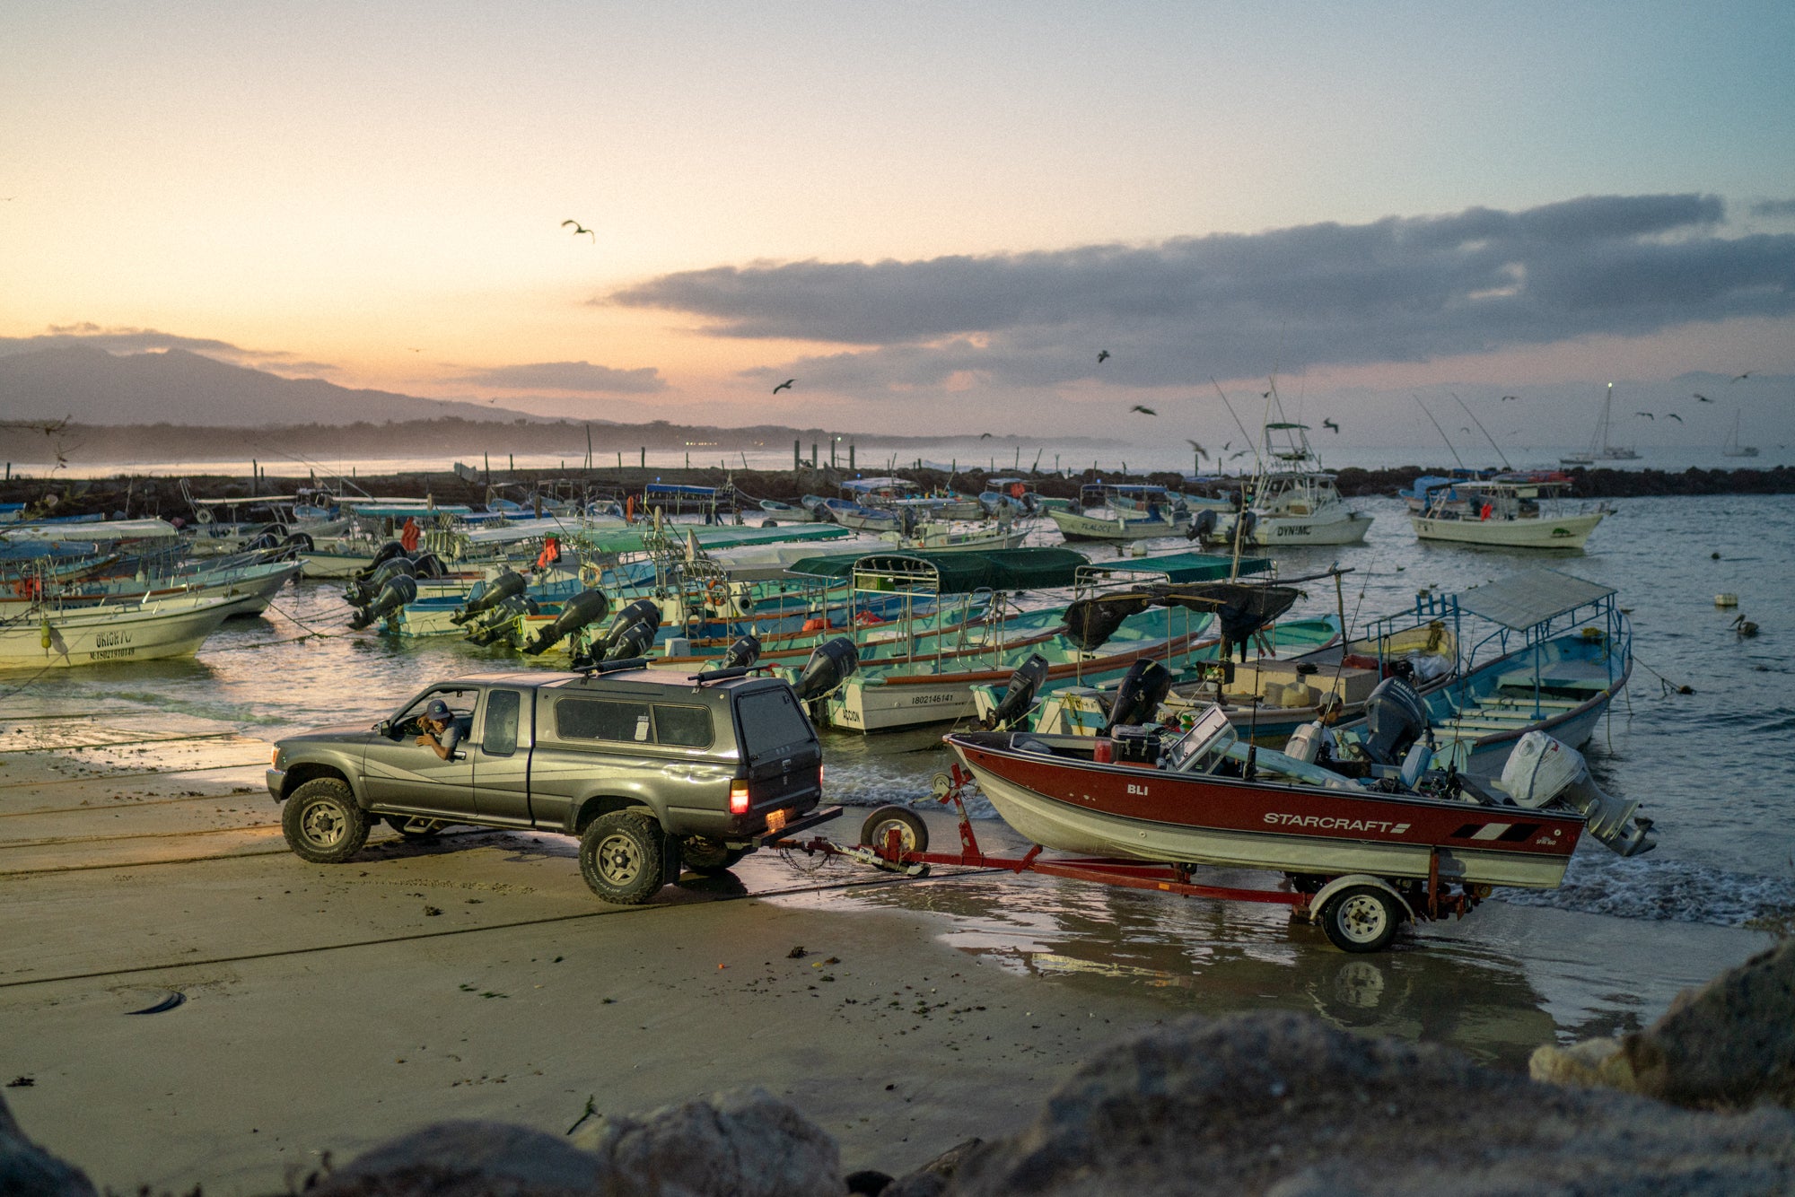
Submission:
<svg viewBox="0 0 1795 1197">
<path fill-rule="evenodd" d="M 1133 438 L 1276 373 L 1353 443 L 1616 382 L 1795 441 L 1791 52 L 1788 0 L 13 4 L 0 354 Z"/>
</svg>

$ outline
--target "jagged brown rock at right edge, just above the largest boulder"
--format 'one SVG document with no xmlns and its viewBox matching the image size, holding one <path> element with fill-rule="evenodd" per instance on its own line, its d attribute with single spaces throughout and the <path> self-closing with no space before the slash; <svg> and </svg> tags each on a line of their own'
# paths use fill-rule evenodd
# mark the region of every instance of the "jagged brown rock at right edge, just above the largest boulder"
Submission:
<svg viewBox="0 0 1795 1197">
<path fill-rule="evenodd" d="M 1795 1109 L 1795 940 L 1680 992 L 1646 1030 L 1540 1048 L 1531 1071 L 1694 1109 Z"/>
</svg>

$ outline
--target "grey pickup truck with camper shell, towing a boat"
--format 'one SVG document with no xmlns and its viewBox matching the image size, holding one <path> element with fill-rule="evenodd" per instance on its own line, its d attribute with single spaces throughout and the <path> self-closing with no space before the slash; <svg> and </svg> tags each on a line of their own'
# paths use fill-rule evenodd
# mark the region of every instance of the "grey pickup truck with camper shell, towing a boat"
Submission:
<svg viewBox="0 0 1795 1197">
<path fill-rule="evenodd" d="M 416 743 L 431 702 L 461 729 L 449 759 Z M 284 738 L 269 765 L 303 860 L 350 860 L 381 818 L 406 836 L 449 824 L 551 831 L 576 836 L 585 883 L 625 904 L 682 865 L 722 872 L 768 836 L 840 815 L 819 809 L 822 747 L 786 682 L 639 659 L 434 682 L 373 727 Z"/>
</svg>

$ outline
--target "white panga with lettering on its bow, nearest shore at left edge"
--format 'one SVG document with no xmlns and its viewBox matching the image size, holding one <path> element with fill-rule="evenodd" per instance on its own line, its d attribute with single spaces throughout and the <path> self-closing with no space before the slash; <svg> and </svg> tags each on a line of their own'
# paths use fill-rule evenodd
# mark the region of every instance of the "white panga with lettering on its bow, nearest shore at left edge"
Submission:
<svg viewBox="0 0 1795 1197">
<path fill-rule="evenodd" d="M 0 669 L 190 657 L 237 607 L 237 599 L 223 596 L 41 605 L 0 623 Z"/>
</svg>

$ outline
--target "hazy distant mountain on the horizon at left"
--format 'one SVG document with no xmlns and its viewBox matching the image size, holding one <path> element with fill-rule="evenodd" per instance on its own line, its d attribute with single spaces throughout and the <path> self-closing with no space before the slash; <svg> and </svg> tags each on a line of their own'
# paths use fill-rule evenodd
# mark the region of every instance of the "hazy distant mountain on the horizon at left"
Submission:
<svg viewBox="0 0 1795 1197">
<path fill-rule="evenodd" d="M 386 420 L 540 420 L 494 404 L 282 379 L 187 350 L 115 355 L 84 345 L 0 357 L 0 420 L 269 427 Z"/>
</svg>

